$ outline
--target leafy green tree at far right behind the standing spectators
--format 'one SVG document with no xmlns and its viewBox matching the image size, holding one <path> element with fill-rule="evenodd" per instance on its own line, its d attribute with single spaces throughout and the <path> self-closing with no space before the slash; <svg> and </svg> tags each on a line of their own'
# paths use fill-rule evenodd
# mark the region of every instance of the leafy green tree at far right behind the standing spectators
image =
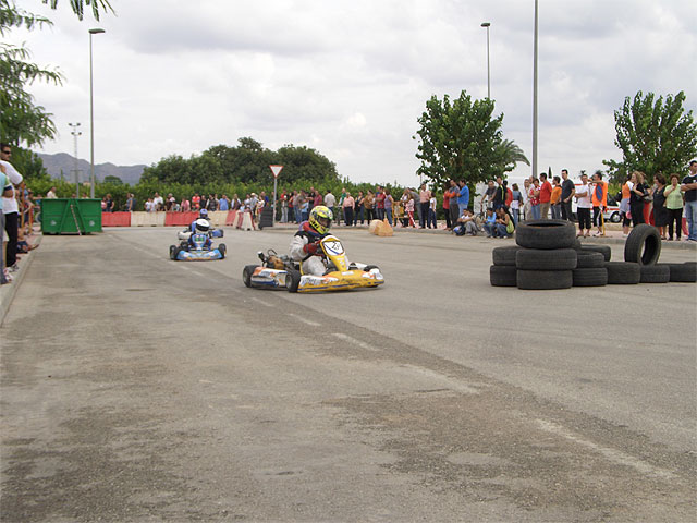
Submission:
<svg viewBox="0 0 697 523">
<path fill-rule="evenodd" d="M 685 112 L 685 94 L 646 96 L 639 90 L 634 99 L 626 97 L 621 109 L 614 111 L 615 145 L 622 149 L 623 160 L 603 160 L 610 179 L 623 182 L 626 173 L 641 171 L 649 182 L 658 172 L 670 174 L 684 170 L 697 156 L 697 125 L 693 111 Z"/>
</svg>

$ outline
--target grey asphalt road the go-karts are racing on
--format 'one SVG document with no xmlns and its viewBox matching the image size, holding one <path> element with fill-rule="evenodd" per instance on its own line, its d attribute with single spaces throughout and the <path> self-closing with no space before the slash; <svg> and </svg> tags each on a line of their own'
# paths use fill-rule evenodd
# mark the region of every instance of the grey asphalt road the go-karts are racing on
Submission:
<svg viewBox="0 0 697 523">
<path fill-rule="evenodd" d="M 382 288 L 246 289 L 289 230 L 200 264 L 172 229 L 44 238 L 0 328 L 1 520 L 694 521 L 697 285 L 492 288 L 504 240 L 337 233 Z"/>
</svg>

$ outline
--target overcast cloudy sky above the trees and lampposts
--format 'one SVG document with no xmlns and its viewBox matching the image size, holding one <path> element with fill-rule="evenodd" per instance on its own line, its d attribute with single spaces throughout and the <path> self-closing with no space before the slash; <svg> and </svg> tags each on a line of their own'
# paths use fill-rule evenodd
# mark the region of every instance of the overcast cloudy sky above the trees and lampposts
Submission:
<svg viewBox="0 0 697 523">
<path fill-rule="evenodd" d="M 414 184 L 417 118 L 432 95 L 491 97 L 503 134 L 531 159 L 533 0 L 111 0 L 80 22 L 69 1 L 17 5 L 53 26 L 7 38 L 65 75 L 34 85 L 60 136 L 41 149 L 89 159 L 89 37 L 95 162 L 157 162 L 252 136 L 313 147 L 355 182 Z M 540 170 L 621 158 L 613 111 L 637 90 L 697 108 L 694 0 L 539 0 Z M 697 112 L 697 111 L 695 111 Z M 529 174 L 521 166 L 514 179 Z M 282 177 L 282 174 L 281 174 Z"/>
</svg>

